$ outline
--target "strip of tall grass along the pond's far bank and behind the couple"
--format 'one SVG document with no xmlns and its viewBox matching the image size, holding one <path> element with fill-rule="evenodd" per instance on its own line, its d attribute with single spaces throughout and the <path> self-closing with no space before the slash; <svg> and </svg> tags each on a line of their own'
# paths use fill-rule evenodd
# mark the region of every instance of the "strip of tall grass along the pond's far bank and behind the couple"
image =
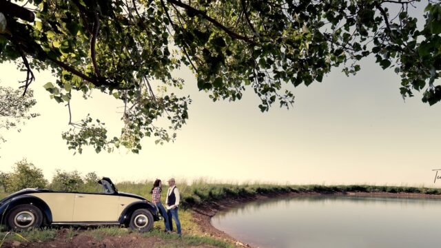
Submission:
<svg viewBox="0 0 441 248">
<path fill-rule="evenodd" d="M 150 200 L 153 181 L 144 180 L 140 182 L 124 181 L 116 183 L 120 192 L 127 192 L 143 196 Z M 258 194 L 283 194 L 289 192 L 298 193 L 320 193 L 333 194 L 345 192 L 369 192 L 369 193 L 418 193 L 418 194 L 441 194 L 441 189 L 429 187 L 409 186 L 382 186 L 382 185 L 276 185 L 269 183 L 219 183 L 205 179 L 194 180 L 188 183 L 187 180 L 178 181 L 181 192 L 181 205 L 193 207 L 201 203 L 212 202 L 225 198 L 239 198 L 256 196 Z M 167 186 L 163 187 L 163 201 Z M 83 192 L 97 192 L 94 185 L 85 184 L 81 186 Z M 0 198 L 6 197 L 8 193 L 0 193 Z"/>
</svg>

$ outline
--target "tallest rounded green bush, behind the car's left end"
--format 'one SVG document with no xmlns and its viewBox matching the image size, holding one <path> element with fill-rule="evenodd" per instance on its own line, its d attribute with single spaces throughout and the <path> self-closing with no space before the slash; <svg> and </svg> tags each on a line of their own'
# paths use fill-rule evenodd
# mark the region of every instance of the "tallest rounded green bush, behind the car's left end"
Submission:
<svg viewBox="0 0 441 248">
<path fill-rule="evenodd" d="M 44 178 L 43 171 L 25 158 L 14 164 L 8 182 L 8 189 L 12 192 L 28 187 L 44 188 L 48 185 L 48 180 Z"/>
</svg>

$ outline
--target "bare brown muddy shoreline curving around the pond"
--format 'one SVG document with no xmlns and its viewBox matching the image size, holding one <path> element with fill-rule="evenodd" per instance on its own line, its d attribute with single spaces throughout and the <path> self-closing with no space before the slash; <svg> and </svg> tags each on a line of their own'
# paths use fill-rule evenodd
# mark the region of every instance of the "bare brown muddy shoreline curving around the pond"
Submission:
<svg viewBox="0 0 441 248">
<path fill-rule="evenodd" d="M 212 223 L 212 217 L 215 216 L 219 211 L 227 211 L 239 205 L 246 203 L 251 203 L 256 200 L 265 200 L 269 198 L 280 198 L 280 197 L 301 197 L 301 196 L 382 196 L 388 198 L 435 198 L 441 199 L 441 195 L 433 194 L 420 194 L 420 193 L 389 193 L 389 192 L 333 192 L 333 193 L 319 193 L 319 192 L 287 192 L 278 194 L 258 194 L 256 196 L 244 196 L 238 198 L 231 198 L 224 200 L 216 200 L 212 203 L 203 203 L 201 205 L 192 207 L 193 218 L 195 222 L 201 227 L 203 232 L 209 236 L 214 236 L 221 238 L 223 240 L 228 240 L 229 242 L 234 242 L 238 247 L 252 247 L 252 245 L 236 240 L 224 231 L 216 229 Z"/>
</svg>

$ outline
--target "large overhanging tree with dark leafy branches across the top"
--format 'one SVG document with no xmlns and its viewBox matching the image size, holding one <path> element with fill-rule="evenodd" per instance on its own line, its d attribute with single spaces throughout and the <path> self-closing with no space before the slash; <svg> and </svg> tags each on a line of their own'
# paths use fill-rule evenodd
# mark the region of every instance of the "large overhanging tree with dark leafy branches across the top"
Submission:
<svg viewBox="0 0 441 248">
<path fill-rule="evenodd" d="M 191 102 L 167 91 L 183 87 L 172 75 L 182 66 L 213 101 L 252 88 L 263 112 L 290 107 L 291 86 L 320 82 L 331 68 L 356 74 L 367 56 L 401 76 L 403 97 L 417 90 L 430 105 L 441 100 L 440 1 L 428 1 L 422 28 L 407 12 L 419 0 L 31 0 L 32 11 L 0 2 L 0 61 L 21 61 L 25 89 L 32 70 L 50 69 L 57 81 L 44 87 L 69 112 L 72 90 L 124 105 L 119 137 L 91 116 L 71 116 L 63 138 L 80 153 L 85 145 L 139 152 L 144 136 L 173 141 Z M 157 125 L 163 118 L 169 127 Z"/>
</svg>

